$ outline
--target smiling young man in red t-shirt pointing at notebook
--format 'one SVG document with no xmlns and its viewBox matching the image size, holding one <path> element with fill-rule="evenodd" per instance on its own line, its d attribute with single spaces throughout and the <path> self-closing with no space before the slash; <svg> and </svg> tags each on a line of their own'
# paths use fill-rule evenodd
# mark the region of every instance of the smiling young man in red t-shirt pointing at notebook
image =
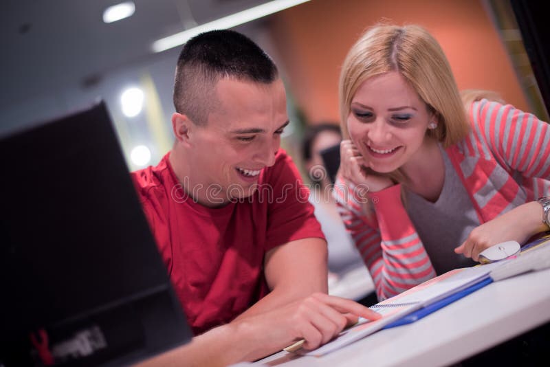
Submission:
<svg viewBox="0 0 550 367">
<path fill-rule="evenodd" d="M 327 243 L 280 148 L 285 88 L 269 56 L 237 32 L 192 38 L 174 104 L 173 149 L 133 179 L 188 321 L 204 333 L 187 357 L 256 359 L 297 338 L 315 348 L 356 320 L 342 313 L 376 318 L 322 294 Z"/>
</svg>

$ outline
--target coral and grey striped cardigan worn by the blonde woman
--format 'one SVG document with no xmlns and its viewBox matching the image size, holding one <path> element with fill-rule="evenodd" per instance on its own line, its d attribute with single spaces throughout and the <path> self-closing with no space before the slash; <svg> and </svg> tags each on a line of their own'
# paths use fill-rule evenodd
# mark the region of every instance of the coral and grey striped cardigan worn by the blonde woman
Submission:
<svg viewBox="0 0 550 367">
<path fill-rule="evenodd" d="M 468 115 L 472 131 L 446 151 L 480 223 L 550 193 L 549 124 L 487 100 L 474 102 Z M 367 206 L 355 189 L 338 177 L 338 210 L 371 272 L 378 299 L 433 278 L 430 258 L 401 202 L 401 186 L 369 192 L 371 216 L 365 215 Z"/>
</svg>

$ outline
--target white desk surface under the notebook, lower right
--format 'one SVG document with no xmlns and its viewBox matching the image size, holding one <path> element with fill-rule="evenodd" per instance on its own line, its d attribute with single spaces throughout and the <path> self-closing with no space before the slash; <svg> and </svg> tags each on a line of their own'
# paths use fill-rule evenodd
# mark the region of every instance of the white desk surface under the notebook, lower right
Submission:
<svg viewBox="0 0 550 367">
<path fill-rule="evenodd" d="M 378 331 L 324 357 L 280 352 L 256 364 L 445 366 L 550 321 L 550 269 L 500 280 L 412 324 Z"/>
</svg>

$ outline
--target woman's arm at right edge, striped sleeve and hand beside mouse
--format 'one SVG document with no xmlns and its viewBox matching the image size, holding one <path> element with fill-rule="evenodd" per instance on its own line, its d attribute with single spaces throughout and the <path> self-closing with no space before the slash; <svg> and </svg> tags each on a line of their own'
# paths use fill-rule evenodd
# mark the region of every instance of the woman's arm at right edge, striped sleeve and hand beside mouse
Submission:
<svg viewBox="0 0 550 367">
<path fill-rule="evenodd" d="M 527 202 L 476 227 L 456 247 L 457 254 L 478 260 L 480 252 L 496 243 L 525 243 L 534 234 L 549 230 L 542 223 L 542 205 L 534 200 L 550 195 L 550 125 L 509 104 L 487 100 L 474 103 L 470 115 L 482 158 L 492 155 L 509 175 L 520 175 L 527 192 Z M 504 183 L 500 190 L 507 190 L 508 185 Z"/>
</svg>

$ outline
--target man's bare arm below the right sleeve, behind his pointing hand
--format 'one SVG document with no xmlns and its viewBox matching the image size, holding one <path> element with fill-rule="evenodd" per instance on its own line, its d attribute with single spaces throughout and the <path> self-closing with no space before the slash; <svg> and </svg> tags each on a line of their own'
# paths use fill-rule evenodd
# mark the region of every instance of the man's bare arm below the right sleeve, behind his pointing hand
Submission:
<svg viewBox="0 0 550 367">
<path fill-rule="evenodd" d="M 265 254 L 265 280 L 271 292 L 241 313 L 236 320 L 310 296 L 327 293 L 327 242 L 303 238 L 277 246 Z"/>
</svg>

